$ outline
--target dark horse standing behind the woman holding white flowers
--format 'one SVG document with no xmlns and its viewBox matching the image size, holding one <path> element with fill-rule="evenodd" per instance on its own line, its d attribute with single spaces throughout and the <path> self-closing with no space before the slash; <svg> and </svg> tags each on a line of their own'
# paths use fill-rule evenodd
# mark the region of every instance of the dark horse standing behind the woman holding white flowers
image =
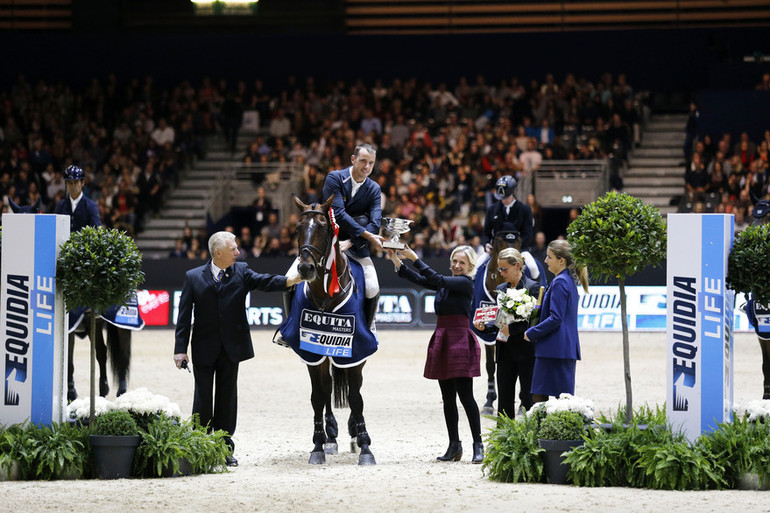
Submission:
<svg viewBox="0 0 770 513">
<path fill-rule="evenodd" d="M 514 229 L 499 230 L 492 239 L 492 249 L 489 252 L 489 258 L 481 263 L 476 269 L 476 278 L 474 279 L 473 308 L 477 309 L 484 306 L 493 306 L 497 304 L 494 294 L 498 285 L 503 283 L 503 277 L 497 271 L 497 255 L 506 248 L 521 250 L 521 237 L 519 232 Z M 545 269 L 536 261 L 539 276 L 535 278 L 542 285 L 547 285 Z M 525 268 L 524 272 L 532 276 L 533 272 Z M 481 408 L 482 415 L 492 415 L 494 413 L 494 402 L 497 399 L 495 388 L 495 342 L 497 330 L 487 329 L 479 331 L 473 325 L 471 319 L 471 330 L 476 334 L 484 344 L 485 369 L 487 371 L 487 396 L 484 406 Z"/>
</svg>

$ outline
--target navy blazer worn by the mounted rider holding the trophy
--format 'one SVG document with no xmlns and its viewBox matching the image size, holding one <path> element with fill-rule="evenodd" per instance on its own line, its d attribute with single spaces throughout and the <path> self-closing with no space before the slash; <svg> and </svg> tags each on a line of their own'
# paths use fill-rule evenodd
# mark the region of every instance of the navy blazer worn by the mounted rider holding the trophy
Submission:
<svg viewBox="0 0 770 513">
<path fill-rule="evenodd" d="M 351 198 L 353 177 L 350 175 L 350 169 L 347 167 L 329 172 L 324 182 L 321 201 L 326 201 L 334 194 L 332 209 L 340 226 L 340 240 L 350 239 L 353 247 L 348 252 L 356 258 L 365 258 L 370 256 L 369 242 L 361 237 L 361 234 L 364 230 L 375 235 L 380 233 L 382 221 L 380 186 L 367 177 L 356 195 Z M 366 216 L 363 223 L 354 219 L 359 216 Z"/>
</svg>

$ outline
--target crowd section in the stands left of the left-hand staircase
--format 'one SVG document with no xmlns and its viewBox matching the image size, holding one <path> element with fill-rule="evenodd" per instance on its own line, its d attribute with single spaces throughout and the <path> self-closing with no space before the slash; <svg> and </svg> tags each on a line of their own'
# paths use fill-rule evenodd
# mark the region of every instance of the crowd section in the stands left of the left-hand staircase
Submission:
<svg viewBox="0 0 770 513">
<path fill-rule="evenodd" d="M 204 86 L 165 89 L 152 77 L 120 85 L 111 75 L 74 91 L 19 75 L 0 90 L 3 212 L 9 199 L 22 206 L 40 199 L 42 212 L 53 212 L 66 196 L 63 170 L 76 164 L 102 223 L 140 231 L 180 170 L 204 157 L 204 138 L 216 130 L 212 112 L 198 103 Z"/>
</svg>

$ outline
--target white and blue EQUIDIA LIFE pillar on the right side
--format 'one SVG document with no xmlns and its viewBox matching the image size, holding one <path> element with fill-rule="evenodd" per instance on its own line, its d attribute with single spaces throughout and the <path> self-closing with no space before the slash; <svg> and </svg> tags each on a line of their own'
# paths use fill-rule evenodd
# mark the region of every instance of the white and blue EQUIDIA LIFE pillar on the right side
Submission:
<svg viewBox="0 0 770 513">
<path fill-rule="evenodd" d="M 690 440 L 732 418 L 733 232 L 732 215 L 668 216 L 666 414 Z"/>
</svg>

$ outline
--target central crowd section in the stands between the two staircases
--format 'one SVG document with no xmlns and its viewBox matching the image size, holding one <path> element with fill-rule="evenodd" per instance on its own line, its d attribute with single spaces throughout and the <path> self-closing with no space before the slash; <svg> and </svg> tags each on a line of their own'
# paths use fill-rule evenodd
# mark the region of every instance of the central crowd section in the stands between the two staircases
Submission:
<svg viewBox="0 0 770 513">
<path fill-rule="evenodd" d="M 609 159 L 613 186 L 622 188 L 620 168 L 639 143 L 641 122 L 639 95 L 624 75 L 610 74 L 596 83 L 571 74 L 559 83 L 549 74 L 528 85 L 516 78 L 490 85 L 478 76 L 452 87 L 414 79 L 321 86 L 289 77 L 277 94 L 258 80 L 237 101 L 265 127 L 242 161 L 299 164 L 305 203 L 320 199 L 326 173 L 347 167 L 356 145 L 374 145 L 383 215 L 414 220 L 406 238 L 421 256 L 446 256 L 464 243 L 481 248 L 496 180 L 535 173 L 543 161 Z M 542 230 L 536 197 L 521 200 Z M 296 251 L 294 220 L 273 214 L 261 188 L 252 221 L 232 227 L 242 253 Z"/>
</svg>

